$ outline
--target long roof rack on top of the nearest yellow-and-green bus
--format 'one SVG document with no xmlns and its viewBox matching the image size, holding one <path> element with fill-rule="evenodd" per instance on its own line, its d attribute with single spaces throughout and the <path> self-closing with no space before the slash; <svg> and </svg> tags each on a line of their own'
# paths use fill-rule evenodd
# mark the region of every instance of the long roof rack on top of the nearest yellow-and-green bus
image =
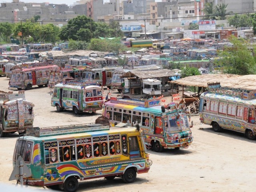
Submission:
<svg viewBox="0 0 256 192">
<path fill-rule="evenodd" d="M 26 135 L 35 137 L 46 137 L 56 135 L 75 134 L 93 131 L 106 131 L 109 130 L 109 124 L 76 124 L 67 126 L 52 126 L 52 127 L 32 127 L 26 129 Z"/>
</svg>

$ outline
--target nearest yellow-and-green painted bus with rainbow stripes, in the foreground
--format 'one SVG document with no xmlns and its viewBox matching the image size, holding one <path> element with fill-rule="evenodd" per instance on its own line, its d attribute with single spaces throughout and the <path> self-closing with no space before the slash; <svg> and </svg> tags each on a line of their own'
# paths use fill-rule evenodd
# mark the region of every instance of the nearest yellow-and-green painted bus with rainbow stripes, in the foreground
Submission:
<svg viewBox="0 0 256 192">
<path fill-rule="evenodd" d="M 94 124 L 91 130 L 99 126 L 102 125 Z M 69 131 L 61 135 L 45 133 L 17 139 L 13 166 L 22 156 L 32 173 L 19 182 L 75 192 L 78 180 L 121 177 L 125 183 L 132 183 L 137 174 L 150 170 L 152 161 L 143 135 L 135 128 L 78 132 L 72 127 Z"/>
</svg>

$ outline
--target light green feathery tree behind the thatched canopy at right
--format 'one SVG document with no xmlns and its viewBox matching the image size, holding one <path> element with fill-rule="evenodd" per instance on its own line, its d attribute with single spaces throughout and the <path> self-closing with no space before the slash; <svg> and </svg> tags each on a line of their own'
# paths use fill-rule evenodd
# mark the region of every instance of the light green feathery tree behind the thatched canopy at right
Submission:
<svg viewBox="0 0 256 192">
<path fill-rule="evenodd" d="M 222 72 L 238 75 L 255 74 L 256 62 L 252 52 L 248 50 L 248 42 L 235 36 L 231 36 L 229 40 L 233 46 L 225 48 L 218 55 L 221 59 L 217 64 L 221 66 Z"/>
</svg>

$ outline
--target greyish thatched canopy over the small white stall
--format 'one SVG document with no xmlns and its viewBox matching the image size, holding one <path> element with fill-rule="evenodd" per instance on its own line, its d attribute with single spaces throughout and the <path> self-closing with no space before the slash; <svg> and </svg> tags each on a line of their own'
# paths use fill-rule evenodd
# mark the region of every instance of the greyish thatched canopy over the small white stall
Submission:
<svg viewBox="0 0 256 192">
<path fill-rule="evenodd" d="M 129 71 L 121 76 L 121 78 L 139 78 L 139 79 L 154 79 L 161 77 L 177 76 L 174 71 L 169 69 L 149 70 L 149 71 Z"/>
</svg>

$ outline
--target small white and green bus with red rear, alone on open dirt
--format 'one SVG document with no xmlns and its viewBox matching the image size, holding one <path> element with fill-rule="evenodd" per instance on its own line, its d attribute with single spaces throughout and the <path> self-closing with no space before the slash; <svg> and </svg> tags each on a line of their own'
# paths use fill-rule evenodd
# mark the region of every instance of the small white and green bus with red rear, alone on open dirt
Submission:
<svg viewBox="0 0 256 192">
<path fill-rule="evenodd" d="M 65 108 L 74 110 L 75 114 L 80 112 L 96 112 L 103 106 L 103 95 L 100 86 L 84 86 L 78 82 L 59 83 L 54 86 L 51 104 L 56 107 L 57 112 Z"/>
</svg>

